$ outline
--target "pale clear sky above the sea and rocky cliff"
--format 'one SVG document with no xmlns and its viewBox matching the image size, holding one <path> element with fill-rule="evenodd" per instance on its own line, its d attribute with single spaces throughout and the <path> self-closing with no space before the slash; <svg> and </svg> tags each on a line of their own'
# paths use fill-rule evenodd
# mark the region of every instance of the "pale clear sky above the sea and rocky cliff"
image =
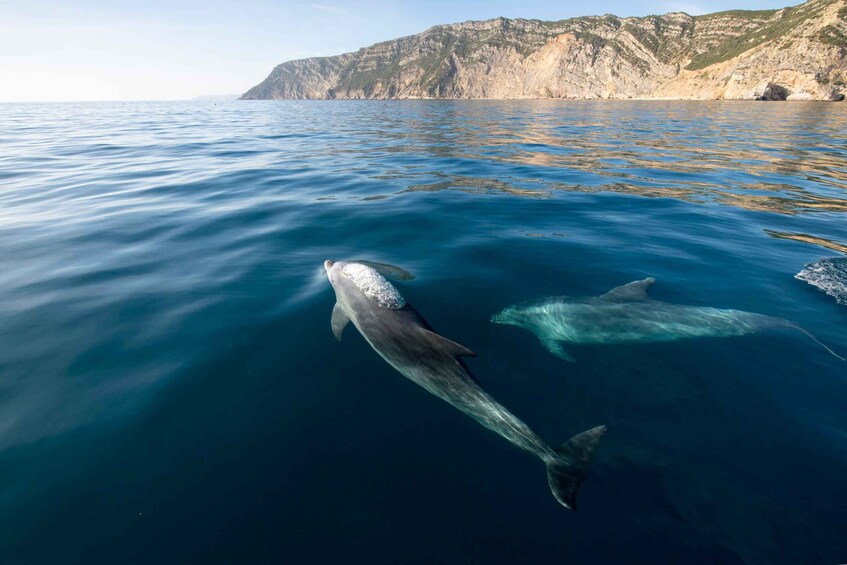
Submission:
<svg viewBox="0 0 847 565">
<path fill-rule="evenodd" d="M 0 101 L 237 94 L 284 61 L 443 23 L 781 8 L 796 0 L 0 0 Z"/>
</svg>

